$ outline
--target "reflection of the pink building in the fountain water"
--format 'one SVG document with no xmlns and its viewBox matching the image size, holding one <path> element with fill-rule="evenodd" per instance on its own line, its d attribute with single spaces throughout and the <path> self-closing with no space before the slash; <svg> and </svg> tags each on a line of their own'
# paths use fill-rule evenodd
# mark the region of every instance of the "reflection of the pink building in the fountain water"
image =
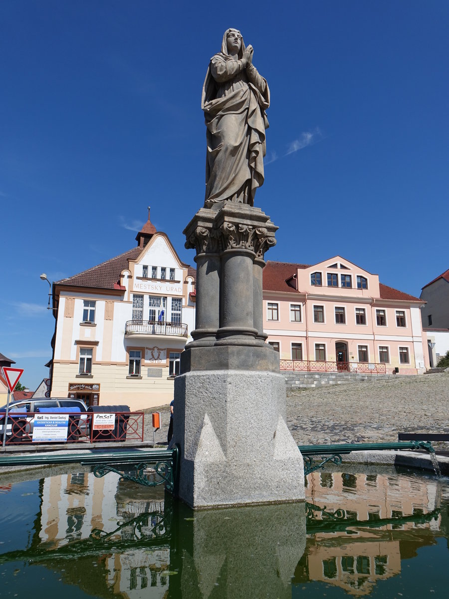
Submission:
<svg viewBox="0 0 449 599">
<path fill-rule="evenodd" d="M 443 489 L 447 500 L 447 483 L 436 478 L 310 474 L 308 538 L 293 583 L 320 580 L 351 595 L 369 594 L 379 580 L 401 573 L 402 559 L 443 536 Z"/>
</svg>

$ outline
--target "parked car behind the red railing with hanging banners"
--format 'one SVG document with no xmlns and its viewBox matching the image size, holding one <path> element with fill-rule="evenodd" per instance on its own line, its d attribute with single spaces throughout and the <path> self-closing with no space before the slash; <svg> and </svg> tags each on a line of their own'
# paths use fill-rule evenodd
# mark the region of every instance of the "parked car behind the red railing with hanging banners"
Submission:
<svg viewBox="0 0 449 599">
<path fill-rule="evenodd" d="M 51 398 L 35 398 L 31 400 L 20 400 L 20 401 L 11 401 L 10 406 L 8 408 L 8 424 L 6 428 L 7 438 L 11 434 L 11 424 L 9 422 L 9 414 L 11 414 L 11 420 L 16 418 L 14 415 L 18 414 L 29 414 L 38 412 L 40 408 L 60 408 L 63 413 L 65 409 L 71 408 L 79 408 L 80 409 L 80 422 L 76 427 L 76 432 L 78 436 L 85 436 L 88 434 L 87 430 L 87 406 L 83 400 L 71 400 L 69 398 L 63 397 L 51 397 Z M 4 430 L 4 419 L 2 418 L 2 413 L 6 412 L 6 406 L 2 406 L 0 408 L 0 438 L 3 438 L 3 430 Z M 27 424 L 25 427 L 25 434 L 32 435 L 34 428 L 34 418 L 33 416 L 29 416 L 26 418 Z"/>
</svg>

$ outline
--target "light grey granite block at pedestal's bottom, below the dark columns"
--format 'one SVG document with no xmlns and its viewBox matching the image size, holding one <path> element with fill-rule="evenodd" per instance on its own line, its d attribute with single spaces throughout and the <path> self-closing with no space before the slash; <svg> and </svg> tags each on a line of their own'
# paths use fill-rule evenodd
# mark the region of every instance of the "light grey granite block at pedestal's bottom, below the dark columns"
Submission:
<svg viewBox="0 0 449 599">
<path fill-rule="evenodd" d="M 178 496 L 194 508 L 304 500 L 304 465 L 286 424 L 284 377 L 190 371 L 175 379 Z"/>
</svg>

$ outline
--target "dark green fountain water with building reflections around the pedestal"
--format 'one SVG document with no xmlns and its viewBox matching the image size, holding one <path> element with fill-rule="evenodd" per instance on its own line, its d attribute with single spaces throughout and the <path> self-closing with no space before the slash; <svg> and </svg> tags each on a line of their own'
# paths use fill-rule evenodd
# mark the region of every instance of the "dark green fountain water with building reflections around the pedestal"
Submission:
<svg viewBox="0 0 449 599">
<path fill-rule="evenodd" d="M 447 597 L 449 479 L 354 468 L 201 512 L 116 474 L 2 475 L 0 596 Z"/>
</svg>

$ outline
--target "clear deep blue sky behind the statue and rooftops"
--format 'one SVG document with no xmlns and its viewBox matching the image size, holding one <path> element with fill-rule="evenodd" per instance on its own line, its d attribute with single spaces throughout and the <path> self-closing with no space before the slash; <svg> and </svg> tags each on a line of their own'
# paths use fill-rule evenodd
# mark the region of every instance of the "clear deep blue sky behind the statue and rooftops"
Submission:
<svg viewBox="0 0 449 599">
<path fill-rule="evenodd" d="M 266 258 L 339 254 L 417 296 L 449 267 L 447 0 L 2 0 L 0 19 L 0 352 L 30 388 L 54 329 L 41 273 L 131 249 L 148 205 L 193 264 L 201 88 L 228 27 L 271 89 Z"/>
</svg>

